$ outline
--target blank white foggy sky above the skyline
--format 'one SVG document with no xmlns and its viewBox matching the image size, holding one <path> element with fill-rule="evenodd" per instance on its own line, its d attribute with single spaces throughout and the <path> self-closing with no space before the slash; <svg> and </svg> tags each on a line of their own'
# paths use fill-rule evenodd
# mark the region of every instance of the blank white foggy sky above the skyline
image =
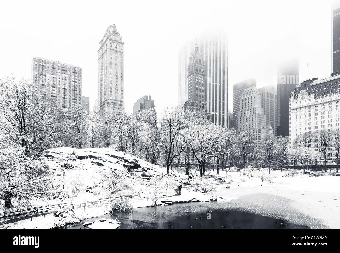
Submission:
<svg viewBox="0 0 340 253">
<path fill-rule="evenodd" d="M 229 36 L 232 85 L 276 84 L 282 57 L 300 57 L 300 80 L 330 75 L 331 0 L 3 1 L 0 78 L 31 78 L 32 57 L 78 65 L 90 108 L 98 98 L 99 40 L 115 24 L 125 43 L 125 110 L 151 95 L 157 110 L 178 103 L 178 49 L 199 33 Z M 307 70 L 307 63 L 309 64 Z M 308 73 L 308 74 L 307 74 Z"/>
</svg>

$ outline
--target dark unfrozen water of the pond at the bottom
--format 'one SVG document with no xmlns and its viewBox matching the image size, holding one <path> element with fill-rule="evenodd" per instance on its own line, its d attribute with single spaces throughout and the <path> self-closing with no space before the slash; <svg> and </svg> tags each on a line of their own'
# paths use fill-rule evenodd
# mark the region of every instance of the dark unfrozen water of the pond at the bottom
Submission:
<svg viewBox="0 0 340 253">
<path fill-rule="evenodd" d="M 116 217 L 121 222 L 118 229 L 310 229 L 304 224 L 294 224 L 255 212 L 231 209 L 231 202 L 233 201 L 135 208 L 130 214 L 115 213 L 112 217 L 102 215 L 84 220 L 67 229 L 88 229 L 82 225 L 84 222 Z"/>
</svg>

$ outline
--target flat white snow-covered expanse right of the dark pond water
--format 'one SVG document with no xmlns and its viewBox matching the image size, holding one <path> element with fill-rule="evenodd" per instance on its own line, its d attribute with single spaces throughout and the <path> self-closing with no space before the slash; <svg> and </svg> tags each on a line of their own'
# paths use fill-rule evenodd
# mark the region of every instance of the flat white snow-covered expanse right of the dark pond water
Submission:
<svg viewBox="0 0 340 253">
<path fill-rule="evenodd" d="M 323 223 L 331 229 L 340 229 L 340 176 L 323 176 L 298 174 L 285 177 L 288 171 L 272 170 L 271 182 L 261 182 L 259 178 L 240 176 L 239 172 L 228 172 L 235 178 L 243 178 L 245 182 L 232 185 L 231 188 L 220 188 L 215 192 L 220 196 L 241 196 L 249 194 L 273 194 L 293 200 L 291 206 L 296 210 Z"/>
</svg>

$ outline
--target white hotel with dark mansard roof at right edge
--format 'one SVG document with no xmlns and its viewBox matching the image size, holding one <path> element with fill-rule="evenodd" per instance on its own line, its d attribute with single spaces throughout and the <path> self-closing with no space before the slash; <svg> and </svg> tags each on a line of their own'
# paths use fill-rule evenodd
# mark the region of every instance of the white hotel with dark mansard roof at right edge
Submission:
<svg viewBox="0 0 340 253">
<path fill-rule="evenodd" d="M 340 131 L 340 74 L 303 81 L 289 96 L 289 148 L 311 133 L 311 149 L 319 151 L 318 131 Z M 335 164 L 334 147 L 328 147 L 327 164 Z"/>
</svg>

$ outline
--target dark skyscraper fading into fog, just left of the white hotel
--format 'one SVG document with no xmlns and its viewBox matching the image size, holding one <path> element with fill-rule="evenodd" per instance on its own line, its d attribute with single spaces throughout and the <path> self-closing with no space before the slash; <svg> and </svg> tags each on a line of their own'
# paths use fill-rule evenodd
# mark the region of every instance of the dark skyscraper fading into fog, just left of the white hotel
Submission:
<svg viewBox="0 0 340 253">
<path fill-rule="evenodd" d="M 299 61 L 291 60 L 283 63 L 277 74 L 277 135 L 289 135 L 289 94 L 295 86 L 299 86 Z"/>
</svg>

